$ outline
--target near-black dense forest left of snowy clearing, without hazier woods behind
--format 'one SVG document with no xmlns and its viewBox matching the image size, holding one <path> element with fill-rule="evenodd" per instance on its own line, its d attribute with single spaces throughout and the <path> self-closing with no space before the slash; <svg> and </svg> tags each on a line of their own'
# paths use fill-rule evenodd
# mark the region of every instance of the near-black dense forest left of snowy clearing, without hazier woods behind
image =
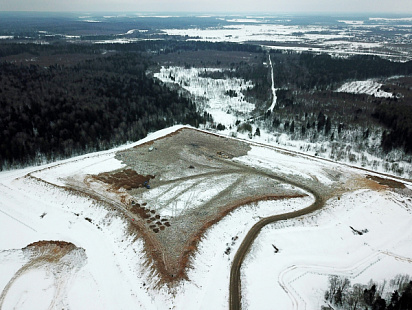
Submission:
<svg viewBox="0 0 412 310">
<path fill-rule="evenodd" d="M 148 60 L 117 54 L 47 68 L 0 63 L 0 168 L 101 150 L 176 123 L 210 120 L 146 77 Z"/>
</svg>

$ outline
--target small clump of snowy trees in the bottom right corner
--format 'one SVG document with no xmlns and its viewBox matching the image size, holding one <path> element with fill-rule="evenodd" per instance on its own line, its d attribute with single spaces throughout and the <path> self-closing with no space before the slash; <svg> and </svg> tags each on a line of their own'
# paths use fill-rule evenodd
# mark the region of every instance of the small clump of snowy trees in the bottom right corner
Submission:
<svg viewBox="0 0 412 310">
<path fill-rule="evenodd" d="M 370 282 L 369 285 L 354 284 L 347 278 L 329 277 L 329 288 L 325 300 L 338 307 L 350 310 L 412 310 L 412 281 L 408 275 L 397 275 L 390 280 L 392 293 L 385 293 L 386 281 L 382 285 Z M 386 295 L 387 297 L 385 298 Z M 322 307 L 322 309 L 332 309 Z M 336 308 L 334 308 L 336 309 Z"/>
</svg>

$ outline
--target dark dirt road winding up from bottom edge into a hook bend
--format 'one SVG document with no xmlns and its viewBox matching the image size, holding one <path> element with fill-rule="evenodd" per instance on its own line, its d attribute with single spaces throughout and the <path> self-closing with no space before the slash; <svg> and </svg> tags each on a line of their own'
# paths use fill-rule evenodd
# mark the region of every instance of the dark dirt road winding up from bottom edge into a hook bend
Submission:
<svg viewBox="0 0 412 310">
<path fill-rule="evenodd" d="M 281 179 L 277 177 L 278 179 Z M 243 239 L 242 243 L 240 244 L 239 249 L 237 250 L 235 257 L 233 258 L 232 267 L 230 268 L 230 284 L 229 284 L 229 309 L 230 310 L 238 310 L 241 309 L 241 295 L 242 295 L 242 288 L 241 288 L 241 280 L 240 280 L 240 267 L 242 266 L 243 260 L 248 253 L 250 246 L 255 241 L 256 237 L 260 233 L 260 230 L 266 226 L 267 224 L 275 223 L 277 221 L 289 220 L 292 218 L 296 218 L 302 215 L 306 215 L 312 213 L 316 210 L 319 210 L 325 204 L 324 199 L 322 196 L 317 193 L 315 190 L 301 184 L 297 184 L 290 180 L 283 180 L 285 183 L 289 183 L 291 185 L 300 187 L 301 189 L 310 192 L 314 198 L 315 202 L 312 203 L 309 207 L 300 209 L 293 212 L 278 214 L 266 217 L 259 222 L 257 222 L 253 227 L 249 230 L 246 237 Z"/>
</svg>

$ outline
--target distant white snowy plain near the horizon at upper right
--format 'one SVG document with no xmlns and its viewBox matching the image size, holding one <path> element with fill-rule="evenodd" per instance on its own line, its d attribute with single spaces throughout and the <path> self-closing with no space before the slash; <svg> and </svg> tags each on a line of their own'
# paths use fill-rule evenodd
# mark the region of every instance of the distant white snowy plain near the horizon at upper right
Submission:
<svg viewBox="0 0 412 310">
<path fill-rule="evenodd" d="M 188 27 L 163 29 L 172 36 L 188 36 L 189 40 L 211 42 L 259 42 L 273 49 L 312 51 L 333 55 L 379 55 L 381 57 L 410 59 L 410 18 L 358 18 L 335 20 L 323 24 L 295 23 L 283 16 L 242 18 L 223 17 L 220 27 Z M 328 21 L 330 22 L 330 21 Z"/>
</svg>

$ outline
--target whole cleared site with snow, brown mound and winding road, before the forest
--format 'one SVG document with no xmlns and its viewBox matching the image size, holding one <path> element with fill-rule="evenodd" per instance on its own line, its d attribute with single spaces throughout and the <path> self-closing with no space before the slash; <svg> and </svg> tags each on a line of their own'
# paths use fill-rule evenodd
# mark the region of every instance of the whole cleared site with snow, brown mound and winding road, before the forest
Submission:
<svg viewBox="0 0 412 310">
<path fill-rule="evenodd" d="M 318 309 L 330 274 L 412 271 L 408 181 L 187 127 L 0 192 L 2 309 L 227 309 L 233 268 L 244 308 Z"/>
</svg>

